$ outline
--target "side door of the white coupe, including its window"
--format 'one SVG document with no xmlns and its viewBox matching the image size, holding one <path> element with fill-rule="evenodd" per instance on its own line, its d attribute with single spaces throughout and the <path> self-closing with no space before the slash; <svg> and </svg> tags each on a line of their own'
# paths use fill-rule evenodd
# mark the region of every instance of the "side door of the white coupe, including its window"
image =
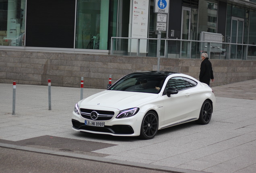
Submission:
<svg viewBox="0 0 256 173">
<path fill-rule="evenodd" d="M 196 84 L 194 80 L 184 77 L 173 77 L 168 80 L 165 90 L 174 88 L 178 90 L 178 94 L 171 95 L 171 97 L 163 95 L 164 124 L 186 119 L 194 111 L 193 88 Z"/>
</svg>

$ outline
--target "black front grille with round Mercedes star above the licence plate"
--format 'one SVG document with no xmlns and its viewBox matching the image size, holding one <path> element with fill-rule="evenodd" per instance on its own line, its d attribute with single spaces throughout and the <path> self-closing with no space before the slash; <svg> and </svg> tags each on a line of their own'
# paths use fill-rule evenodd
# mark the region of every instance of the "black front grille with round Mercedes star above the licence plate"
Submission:
<svg viewBox="0 0 256 173">
<path fill-rule="evenodd" d="M 80 114 L 85 119 L 91 119 L 91 112 L 96 111 L 99 115 L 97 121 L 106 121 L 110 120 L 114 116 L 113 111 L 101 111 L 101 110 L 92 110 L 92 109 L 80 109 Z"/>
</svg>

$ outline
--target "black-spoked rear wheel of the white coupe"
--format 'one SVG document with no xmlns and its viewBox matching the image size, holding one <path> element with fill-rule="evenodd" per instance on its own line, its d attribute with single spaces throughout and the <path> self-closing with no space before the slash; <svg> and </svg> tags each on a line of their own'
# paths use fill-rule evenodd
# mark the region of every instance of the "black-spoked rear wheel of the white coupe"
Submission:
<svg viewBox="0 0 256 173">
<path fill-rule="evenodd" d="M 210 122 L 213 113 L 213 106 L 209 100 L 204 101 L 200 110 L 198 124 L 206 125 Z"/>
</svg>

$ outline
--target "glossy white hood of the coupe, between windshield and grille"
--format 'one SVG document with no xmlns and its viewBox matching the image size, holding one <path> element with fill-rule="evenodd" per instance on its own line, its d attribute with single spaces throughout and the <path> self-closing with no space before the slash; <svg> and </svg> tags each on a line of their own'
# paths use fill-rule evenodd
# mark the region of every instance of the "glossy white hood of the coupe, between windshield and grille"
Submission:
<svg viewBox="0 0 256 173">
<path fill-rule="evenodd" d="M 80 107 L 109 107 L 119 110 L 137 107 L 138 105 L 156 99 L 158 94 L 137 93 L 127 91 L 102 91 L 84 99 Z"/>
</svg>

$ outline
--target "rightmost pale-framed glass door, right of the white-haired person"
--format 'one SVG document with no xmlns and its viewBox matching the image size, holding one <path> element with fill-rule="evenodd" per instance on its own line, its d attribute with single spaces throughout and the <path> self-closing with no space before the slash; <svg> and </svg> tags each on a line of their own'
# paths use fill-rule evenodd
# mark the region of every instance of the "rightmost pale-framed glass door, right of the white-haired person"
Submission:
<svg viewBox="0 0 256 173">
<path fill-rule="evenodd" d="M 244 38 L 244 19 L 232 17 L 231 22 L 231 43 L 243 44 Z M 242 59 L 243 46 L 231 45 L 231 59 Z"/>
</svg>

